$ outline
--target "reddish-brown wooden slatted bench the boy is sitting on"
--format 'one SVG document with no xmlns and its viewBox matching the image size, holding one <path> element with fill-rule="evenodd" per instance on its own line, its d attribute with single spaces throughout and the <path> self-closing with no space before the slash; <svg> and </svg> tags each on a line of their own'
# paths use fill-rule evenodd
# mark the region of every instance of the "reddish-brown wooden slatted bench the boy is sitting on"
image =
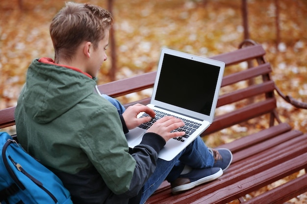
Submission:
<svg viewBox="0 0 307 204">
<path fill-rule="evenodd" d="M 244 204 L 281 204 L 307 192 L 307 135 L 281 122 L 276 111 L 275 93 L 297 108 L 307 108 L 307 104 L 283 95 L 276 87 L 270 76 L 272 68 L 264 59 L 265 51 L 261 45 L 247 40 L 239 47 L 211 57 L 225 62 L 226 70 L 217 115 L 202 136 L 236 124 L 249 121 L 253 124 L 255 118 L 267 120 L 267 127 L 219 146 L 233 152 L 230 168 L 219 179 L 179 195 L 172 195 L 169 183 L 164 181 L 147 204 L 225 204 L 236 199 Z M 231 73 L 231 67 L 237 66 L 237 69 L 242 62 L 248 62 L 250 68 Z M 124 96 L 153 87 L 155 75 L 153 71 L 110 82 L 100 85 L 99 90 L 113 97 Z M 143 98 L 125 106 L 149 101 L 150 98 Z M 235 108 L 227 113 L 219 111 L 228 106 Z M 11 107 L 0 111 L 0 128 L 15 124 L 14 110 Z M 305 170 L 302 176 L 244 201 L 243 196 L 301 170 Z"/>
</svg>

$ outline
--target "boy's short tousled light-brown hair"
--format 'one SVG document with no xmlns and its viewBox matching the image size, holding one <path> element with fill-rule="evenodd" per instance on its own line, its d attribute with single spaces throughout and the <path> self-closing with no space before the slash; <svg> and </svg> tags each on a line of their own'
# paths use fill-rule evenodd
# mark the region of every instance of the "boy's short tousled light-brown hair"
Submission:
<svg viewBox="0 0 307 204">
<path fill-rule="evenodd" d="M 99 6 L 67 2 L 50 25 L 54 58 L 72 60 L 77 47 L 84 41 L 91 42 L 97 49 L 112 23 L 111 13 Z"/>
</svg>

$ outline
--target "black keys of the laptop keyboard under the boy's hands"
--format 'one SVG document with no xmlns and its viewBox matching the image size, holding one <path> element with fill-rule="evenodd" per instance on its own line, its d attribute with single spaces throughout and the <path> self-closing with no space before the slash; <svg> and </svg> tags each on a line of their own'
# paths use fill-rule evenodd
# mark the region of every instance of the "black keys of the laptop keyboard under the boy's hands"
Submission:
<svg viewBox="0 0 307 204">
<path fill-rule="evenodd" d="M 179 137 L 174 137 L 173 139 L 176 139 L 178 141 L 184 142 L 186 138 L 188 138 L 192 133 L 194 133 L 197 130 L 197 128 L 199 128 L 201 126 L 200 123 L 192 121 L 192 120 L 187 120 L 187 119 L 184 119 L 184 118 L 181 118 L 181 117 L 178 117 L 178 116 L 175 116 L 175 115 L 171 115 L 171 114 L 168 114 L 168 113 L 164 113 L 164 112 L 161 112 L 161 111 L 157 111 L 157 110 L 153 110 L 153 111 L 155 112 L 155 117 L 152 118 L 149 122 L 141 124 L 139 126 L 140 128 L 143 128 L 143 129 L 147 130 L 158 119 L 160 119 L 160 118 L 162 118 L 164 116 L 174 116 L 176 118 L 181 119 L 185 123 L 185 125 L 182 126 L 182 127 L 179 127 L 176 130 L 173 130 L 172 132 L 185 131 L 185 135 L 184 136 L 179 136 Z M 149 114 L 143 113 L 143 115 L 141 117 L 147 117 L 147 116 L 149 116 Z"/>
</svg>

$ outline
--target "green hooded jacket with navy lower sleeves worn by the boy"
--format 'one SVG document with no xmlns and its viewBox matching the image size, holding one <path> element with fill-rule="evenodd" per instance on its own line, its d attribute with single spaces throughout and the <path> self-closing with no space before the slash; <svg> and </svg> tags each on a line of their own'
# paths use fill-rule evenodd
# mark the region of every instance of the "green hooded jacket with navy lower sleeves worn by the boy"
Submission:
<svg viewBox="0 0 307 204">
<path fill-rule="evenodd" d="M 103 203 L 127 203 L 153 173 L 165 142 L 147 134 L 148 139 L 129 154 L 123 121 L 95 92 L 95 79 L 42 59 L 44 63 L 36 59 L 30 64 L 15 111 L 21 145 L 60 177 L 74 203 L 82 203 L 83 191 L 83 197 L 92 191 L 103 194 L 98 199 Z M 80 190 L 83 187 L 89 191 Z"/>
</svg>

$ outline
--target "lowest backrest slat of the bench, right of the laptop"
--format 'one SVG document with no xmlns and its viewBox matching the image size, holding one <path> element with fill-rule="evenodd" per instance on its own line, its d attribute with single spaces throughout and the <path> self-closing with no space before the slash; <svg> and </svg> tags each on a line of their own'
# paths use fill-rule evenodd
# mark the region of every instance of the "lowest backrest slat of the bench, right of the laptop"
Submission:
<svg viewBox="0 0 307 204">
<path fill-rule="evenodd" d="M 247 105 L 244 108 L 218 115 L 214 118 L 210 127 L 205 130 L 201 136 L 222 130 L 240 122 L 255 118 L 265 113 L 270 113 L 276 108 L 275 98 L 269 98 L 265 101 L 257 102 L 251 105 Z"/>
</svg>

